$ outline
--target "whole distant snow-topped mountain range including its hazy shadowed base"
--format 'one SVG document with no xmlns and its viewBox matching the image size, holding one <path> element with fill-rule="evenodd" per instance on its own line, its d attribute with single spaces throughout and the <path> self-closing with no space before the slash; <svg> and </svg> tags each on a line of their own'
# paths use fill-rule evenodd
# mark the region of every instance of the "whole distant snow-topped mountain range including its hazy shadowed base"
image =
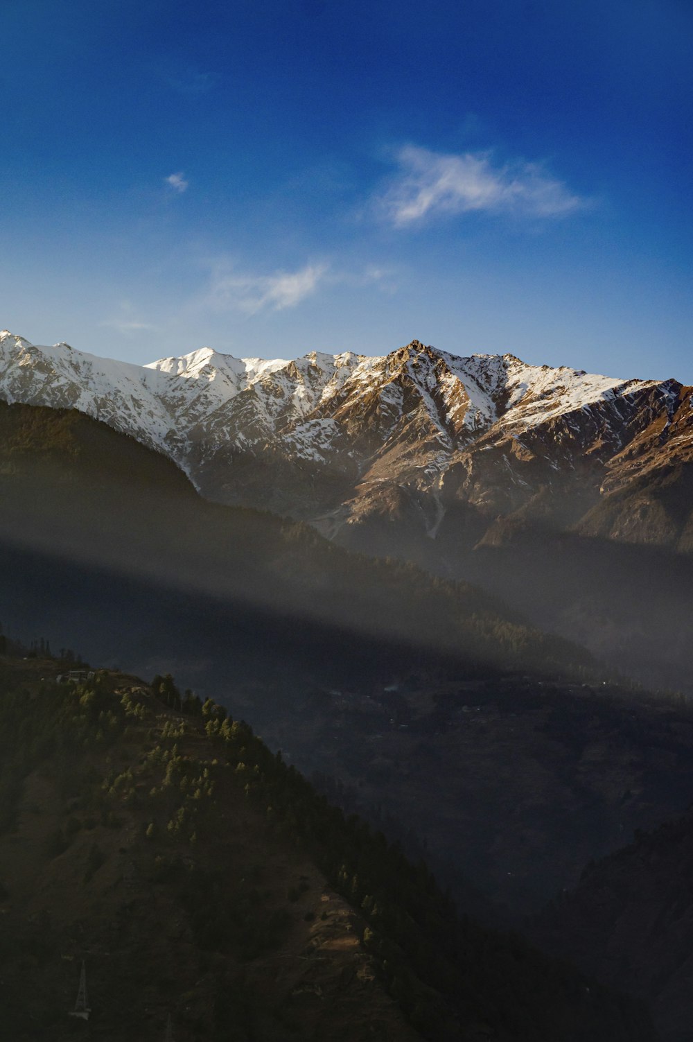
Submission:
<svg viewBox="0 0 693 1042">
<path fill-rule="evenodd" d="M 134 366 L 0 333 L 5 401 L 78 410 L 169 456 L 208 500 L 471 580 L 685 691 L 691 393 L 419 341 L 383 357 L 202 348 Z"/>
</svg>

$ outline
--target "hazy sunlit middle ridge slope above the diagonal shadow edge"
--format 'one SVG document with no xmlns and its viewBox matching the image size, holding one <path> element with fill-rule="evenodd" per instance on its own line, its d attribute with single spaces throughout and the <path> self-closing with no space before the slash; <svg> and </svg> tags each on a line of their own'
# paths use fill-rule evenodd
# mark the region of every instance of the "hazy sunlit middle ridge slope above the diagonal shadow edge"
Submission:
<svg viewBox="0 0 693 1042">
<path fill-rule="evenodd" d="M 0 537 L 246 611 L 496 667 L 580 668 L 466 584 L 351 555 L 312 529 L 197 495 L 169 461 L 77 412 L 0 403 Z"/>
</svg>

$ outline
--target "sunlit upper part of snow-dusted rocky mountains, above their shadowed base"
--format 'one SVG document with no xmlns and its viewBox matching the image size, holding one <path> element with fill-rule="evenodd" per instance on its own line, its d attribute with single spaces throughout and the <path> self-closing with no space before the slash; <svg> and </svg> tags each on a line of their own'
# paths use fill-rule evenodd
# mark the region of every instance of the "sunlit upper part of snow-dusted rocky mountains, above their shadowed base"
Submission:
<svg viewBox="0 0 693 1042">
<path fill-rule="evenodd" d="M 643 474 L 693 458 L 691 389 L 675 380 L 459 357 L 419 341 L 382 357 L 266 362 L 202 348 L 141 367 L 5 330 L 0 397 L 103 420 L 170 456 L 211 499 L 417 559 L 426 537 L 498 538 L 499 517 L 618 536 L 622 512 L 599 513 L 604 493 L 623 498 Z"/>
</svg>

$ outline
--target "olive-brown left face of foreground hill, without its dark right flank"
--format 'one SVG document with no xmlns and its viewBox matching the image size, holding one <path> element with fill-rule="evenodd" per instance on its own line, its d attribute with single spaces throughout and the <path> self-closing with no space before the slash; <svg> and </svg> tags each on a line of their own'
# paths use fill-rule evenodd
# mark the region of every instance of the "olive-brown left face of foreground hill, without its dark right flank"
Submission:
<svg viewBox="0 0 693 1042">
<path fill-rule="evenodd" d="M 59 669 L 0 659 L 11 1038 L 153 1042 L 167 1015 L 180 1042 L 278 1042 L 299 1022 L 306 1039 L 421 1038 L 376 981 L 357 914 L 212 763 L 204 720 L 183 723 L 134 677 L 57 686 Z M 203 795 L 187 799 L 196 773 Z M 67 1015 L 82 959 L 88 1024 Z"/>
</svg>

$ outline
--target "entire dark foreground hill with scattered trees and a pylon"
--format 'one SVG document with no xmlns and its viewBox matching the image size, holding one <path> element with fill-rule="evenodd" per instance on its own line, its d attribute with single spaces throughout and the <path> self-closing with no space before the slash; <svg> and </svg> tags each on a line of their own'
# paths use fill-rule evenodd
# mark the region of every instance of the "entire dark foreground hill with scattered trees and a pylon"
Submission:
<svg viewBox="0 0 693 1042">
<path fill-rule="evenodd" d="M 0 658 L 14 1042 L 634 1042 L 643 1010 L 464 919 L 211 700 Z M 82 961 L 91 1016 L 68 1016 Z"/>
</svg>

